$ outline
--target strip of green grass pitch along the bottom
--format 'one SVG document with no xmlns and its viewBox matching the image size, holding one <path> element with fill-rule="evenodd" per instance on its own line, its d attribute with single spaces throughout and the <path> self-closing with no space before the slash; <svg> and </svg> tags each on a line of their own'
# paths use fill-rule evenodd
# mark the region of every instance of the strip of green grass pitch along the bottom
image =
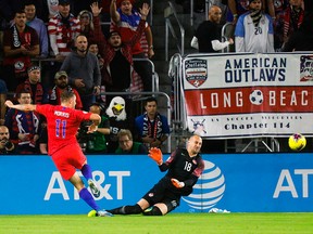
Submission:
<svg viewBox="0 0 313 234">
<path fill-rule="evenodd" d="M 5 234 L 312 234 L 313 213 L 170 213 L 164 217 L 0 216 Z"/>
</svg>

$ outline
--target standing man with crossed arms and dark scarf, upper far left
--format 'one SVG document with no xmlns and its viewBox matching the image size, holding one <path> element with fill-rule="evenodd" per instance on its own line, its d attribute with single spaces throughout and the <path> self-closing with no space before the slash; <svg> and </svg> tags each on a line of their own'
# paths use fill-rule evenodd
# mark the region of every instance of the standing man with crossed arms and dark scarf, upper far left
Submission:
<svg viewBox="0 0 313 234">
<path fill-rule="evenodd" d="M 3 35 L 3 65 L 9 91 L 15 91 L 27 78 L 30 58 L 39 55 L 40 47 L 36 30 L 26 25 L 24 10 L 15 13 L 14 24 Z"/>
</svg>

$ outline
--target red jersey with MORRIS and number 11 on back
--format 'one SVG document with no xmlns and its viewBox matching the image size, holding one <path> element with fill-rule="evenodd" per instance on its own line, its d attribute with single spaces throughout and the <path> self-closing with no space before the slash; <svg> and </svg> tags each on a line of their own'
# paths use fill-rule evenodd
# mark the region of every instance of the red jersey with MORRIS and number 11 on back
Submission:
<svg viewBox="0 0 313 234">
<path fill-rule="evenodd" d="M 79 144 L 76 139 L 82 121 L 89 120 L 91 113 L 61 105 L 36 105 L 36 112 L 46 116 L 49 155 L 70 144 Z"/>
</svg>

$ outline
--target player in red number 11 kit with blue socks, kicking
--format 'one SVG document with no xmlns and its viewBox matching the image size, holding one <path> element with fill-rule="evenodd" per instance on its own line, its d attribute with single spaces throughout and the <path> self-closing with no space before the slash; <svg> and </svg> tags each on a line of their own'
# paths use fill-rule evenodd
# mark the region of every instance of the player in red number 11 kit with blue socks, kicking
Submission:
<svg viewBox="0 0 313 234">
<path fill-rule="evenodd" d="M 91 120 L 88 132 L 97 130 L 101 121 L 98 114 L 86 113 L 75 109 L 76 96 L 73 92 L 63 92 L 61 94 L 61 105 L 33 105 L 17 104 L 7 101 L 5 105 L 24 112 L 38 112 L 47 118 L 48 129 L 48 154 L 51 155 L 53 162 L 64 180 L 68 180 L 78 191 L 79 196 L 92 209 L 88 216 L 112 216 L 105 210 L 101 210 L 96 204 L 92 195 L 85 187 L 76 169 L 79 169 L 88 181 L 89 187 L 95 197 L 100 196 L 100 190 L 92 180 L 92 171 L 87 164 L 87 158 L 76 140 L 76 133 L 82 121 Z"/>
</svg>

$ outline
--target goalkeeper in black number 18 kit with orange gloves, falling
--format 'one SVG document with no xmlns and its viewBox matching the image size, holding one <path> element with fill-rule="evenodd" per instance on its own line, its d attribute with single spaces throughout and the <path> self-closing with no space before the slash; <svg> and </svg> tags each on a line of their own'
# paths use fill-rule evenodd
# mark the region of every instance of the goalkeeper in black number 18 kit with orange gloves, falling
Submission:
<svg viewBox="0 0 313 234">
<path fill-rule="evenodd" d="M 177 148 L 163 162 L 160 148 L 149 151 L 151 157 L 161 171 L 167 173 L 163 177 L 136 205 L 123 206 L 108 210 L 113 214 L 164 216 L 179 206 L 180 197 L 192 193 L 192 186 L 204 170 L 204 162 L 199 155 L 202 139 L 199 135 L 189 138 L 186 148 Z"/>
</svg>

